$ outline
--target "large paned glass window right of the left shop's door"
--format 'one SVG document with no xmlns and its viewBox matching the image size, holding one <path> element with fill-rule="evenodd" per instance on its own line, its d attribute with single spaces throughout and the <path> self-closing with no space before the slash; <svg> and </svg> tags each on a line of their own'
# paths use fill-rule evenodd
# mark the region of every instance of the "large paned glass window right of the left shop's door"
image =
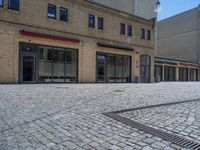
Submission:
<svg viewBox="0 0 200 150">
<path fill-rule="evenodd" d="M 43 47 L 40 50 L 40 82 L 76 82 L 77 51 Z"/>
</svg>

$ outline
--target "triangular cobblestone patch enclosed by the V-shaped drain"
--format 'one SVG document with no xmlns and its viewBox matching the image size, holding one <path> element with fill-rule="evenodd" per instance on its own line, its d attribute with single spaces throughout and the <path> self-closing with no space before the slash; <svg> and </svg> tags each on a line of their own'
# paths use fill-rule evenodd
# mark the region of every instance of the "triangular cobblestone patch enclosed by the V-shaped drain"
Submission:
<svg viewBox="0 0 200 150">
<path fill-rule="evenodd" d="M 200 143 L 200 100 L 130 111 L 121 115 L 155 129 L 175 133 L 178 136 Z"/>
</svg>

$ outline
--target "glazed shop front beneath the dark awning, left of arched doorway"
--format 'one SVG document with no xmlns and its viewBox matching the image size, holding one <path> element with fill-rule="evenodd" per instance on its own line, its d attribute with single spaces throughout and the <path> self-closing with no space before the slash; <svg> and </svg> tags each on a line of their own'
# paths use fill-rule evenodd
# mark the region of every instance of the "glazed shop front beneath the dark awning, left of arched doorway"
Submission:
<svg viewBox="0 0 200 150">
<path fill-rule="evenodd" d="M 98 83 L 131 82 L 131 57 L 97 53 L 96 81 Z"/>
</svg>

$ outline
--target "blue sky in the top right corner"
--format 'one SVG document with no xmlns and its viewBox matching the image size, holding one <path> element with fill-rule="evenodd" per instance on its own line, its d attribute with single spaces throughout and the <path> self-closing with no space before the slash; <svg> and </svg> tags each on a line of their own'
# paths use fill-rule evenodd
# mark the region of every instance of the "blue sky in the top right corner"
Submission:
<svg viewBox="0 0 200 150">
<path fill-rule="evenodd" d="M 158 20 L 190 10 L 200 4 L 200 0 L 160 0 L 160 2 L 162 9 L 158 14 Z"/>
</svg>

